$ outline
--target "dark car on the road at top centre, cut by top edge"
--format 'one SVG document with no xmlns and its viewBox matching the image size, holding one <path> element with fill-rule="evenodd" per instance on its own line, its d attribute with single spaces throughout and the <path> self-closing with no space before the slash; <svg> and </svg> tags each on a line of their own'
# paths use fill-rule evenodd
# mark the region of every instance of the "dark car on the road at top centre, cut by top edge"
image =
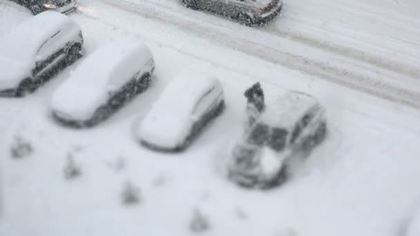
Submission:
<svg viewBox="0 0 420 236">
<path fill-rule="evenodd" d="M 181 0 L 187 8 L 207 10 L 253 26 L 265 23 L 283 8 L 283 0 Z"/>
</svg>

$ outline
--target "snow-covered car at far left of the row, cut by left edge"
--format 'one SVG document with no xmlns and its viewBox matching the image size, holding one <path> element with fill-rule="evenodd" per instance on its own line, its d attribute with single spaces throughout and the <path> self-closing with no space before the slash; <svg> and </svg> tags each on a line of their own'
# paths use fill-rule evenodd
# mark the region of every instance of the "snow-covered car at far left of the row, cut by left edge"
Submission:
<svg viewBox="0 0 420 236">
<path fill-rule="evenodd" d="M 79 25 L 64 14 L 42 12 L 0 39 L 0 95 L 18 97 L 82 57 Z"/>
</svg>

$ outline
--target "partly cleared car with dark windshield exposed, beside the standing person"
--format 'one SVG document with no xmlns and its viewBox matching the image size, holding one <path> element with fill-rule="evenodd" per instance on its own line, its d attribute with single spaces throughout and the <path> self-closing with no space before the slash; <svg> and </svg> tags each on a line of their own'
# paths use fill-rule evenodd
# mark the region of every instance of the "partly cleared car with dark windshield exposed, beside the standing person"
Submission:
<svg viewBox="0 0 420 236">
<path fill-rule="evenodd" d="M 249 188 L 271 188 L 287 179 L 288 163 L 323 141 L 325 108 L 312 96 L 288 92 L 267 106 L 233 147 L 229 179 Z"/>
</svg>

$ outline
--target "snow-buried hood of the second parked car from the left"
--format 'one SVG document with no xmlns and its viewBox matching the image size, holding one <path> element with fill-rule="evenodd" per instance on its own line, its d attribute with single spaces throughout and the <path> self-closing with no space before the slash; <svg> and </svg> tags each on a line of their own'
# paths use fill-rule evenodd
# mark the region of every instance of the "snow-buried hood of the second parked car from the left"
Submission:
<svg viewBox="0 0 420 236">
<path fill-rule="evenodd" d="M 106 103 L 106 99 L 106 91 L 81 86 L 68 79 L 54 92 L 50 108 L 61 118 L 87 121 L 99 106 Z"/>
</svg>

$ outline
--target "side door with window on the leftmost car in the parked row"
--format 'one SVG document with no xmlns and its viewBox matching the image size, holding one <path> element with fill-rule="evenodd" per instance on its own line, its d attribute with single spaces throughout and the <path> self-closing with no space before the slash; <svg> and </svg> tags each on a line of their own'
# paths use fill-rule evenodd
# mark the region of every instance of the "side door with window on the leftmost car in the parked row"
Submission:
<svg viewBox="0 0 420 236">
<path fill-rule="evenodd" d="M 46 37 L 35 54 L 35 69 L 32 72 L 33 77 L 40 77 L 45 72 L 57 66 L 66 55 L 64 33 L 61 30 L 53 32 Z"/>
</svg>

